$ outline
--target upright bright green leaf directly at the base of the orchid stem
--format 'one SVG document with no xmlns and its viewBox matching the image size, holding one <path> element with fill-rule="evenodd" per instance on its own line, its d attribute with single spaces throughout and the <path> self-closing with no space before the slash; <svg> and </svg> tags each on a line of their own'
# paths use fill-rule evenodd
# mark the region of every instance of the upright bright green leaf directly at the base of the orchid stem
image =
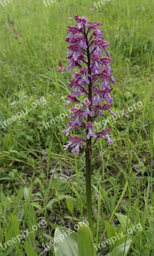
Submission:
<svg viewBox="0 0 154 256">
<path fill-rule="evenodd" d="M 90 227 L 83 222 L 79 222 L 78 229 L 78 256 L 96 256 L 93 242 L 93 234 Z"/>
</svg>

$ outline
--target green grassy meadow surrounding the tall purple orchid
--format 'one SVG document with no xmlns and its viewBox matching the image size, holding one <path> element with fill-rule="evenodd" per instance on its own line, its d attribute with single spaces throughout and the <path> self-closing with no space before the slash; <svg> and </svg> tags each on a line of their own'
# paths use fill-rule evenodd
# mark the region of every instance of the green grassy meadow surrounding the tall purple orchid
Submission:
<svg viewBox="0 0 154 256">
<path fill-rule="evenodd" d="M 113 112 L 126 113 L 137 102 L 143 105 L 102 127 L 111 127 L 114 144 L 100 140 L 93 152 L 94 241 L 108 237 L 106 222 L 119 232 L 114 213 L 122 213 L 143 227 L 134 234 L 128 255 L 154 256 L 154 3 L 111 0 L 99 9 L 92 7 L 88 0 L 57 0 L 47 8 L 41 0 L 0 6 L 0 120 L 20 108 L 30 109 L 41 96 L 46 99 L 46 104 L 0 128 L 0 242 L 30 230 L 42 218 L 48 224 L 5 251 L 0 247 L 0 256 L 25 255 L 28 245 L 36 255 L 54 255 L 53 248 L 43 252 L 42 243 L 53 238 L 55 228 L 73 228 L 87 217 L 84 152 L 78 157 L 63 150 L 66 137 L 61 130 L 67 118 L 48 129 L 43 126 L 64 113 L 71 74 L 57 72 L 56 66 L 62 61 L 67 67 L 64 39 L 67 25 L 75 24 L 68 18 L 77 14 L 102 22 L 111 43 Z M 109 245 L 101 247 L 100 255 L 109 250 Z"/>
</svg>

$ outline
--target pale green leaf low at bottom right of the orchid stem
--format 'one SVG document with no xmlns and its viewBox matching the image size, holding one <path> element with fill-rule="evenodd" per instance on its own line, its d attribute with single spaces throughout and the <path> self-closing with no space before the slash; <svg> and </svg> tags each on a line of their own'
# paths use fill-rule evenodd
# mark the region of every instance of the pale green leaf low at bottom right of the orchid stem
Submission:
<svg viewBox="0 0 154 256">
<path fill-rule="evenodd" d="M 126 256 L 131 245 L 132 240 L 127 240 L 126 243 L 118 244 L 111 253 L 108 253 L 107 256 Z M 125 250 L 125 253 L 124 253 Z"/>
</svg>

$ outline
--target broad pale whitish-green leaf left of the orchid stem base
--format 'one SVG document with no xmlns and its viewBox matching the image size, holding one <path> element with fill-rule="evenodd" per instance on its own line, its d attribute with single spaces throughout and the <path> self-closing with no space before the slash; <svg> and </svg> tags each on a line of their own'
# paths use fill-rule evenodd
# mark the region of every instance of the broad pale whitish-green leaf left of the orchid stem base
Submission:
<svg viewBox="0 0 154 256">
<path fill-rule="evenodd" d="M 78 256 L 77 233 L 66 227 L 55 229 L 54 244 L 55 256 Z M 55 241 L 55 240 L 54 240 Z"/>
</svg>

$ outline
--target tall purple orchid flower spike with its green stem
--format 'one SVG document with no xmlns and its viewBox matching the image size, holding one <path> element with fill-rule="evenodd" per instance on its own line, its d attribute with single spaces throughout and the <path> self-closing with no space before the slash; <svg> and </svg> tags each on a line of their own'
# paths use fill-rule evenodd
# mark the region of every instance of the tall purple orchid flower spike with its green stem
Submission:
<svg viewBox="0 0 154 256">
<path fill-rule="evenodd" d="M 86 158 L 86 194 L 87 194 L 87 215 L 92 229 L 92 212 L 91 212 L 91 157 L 92 148 L 98 140 L 102 138 L 108 143 L 113 143 L 110 138 L 110 128 L 97 131 L 94 128 L 94 120 L 104 117 L 105 111 L 112 116 L 115 114 L 110 110 L 113 105 L 111 84 L 114 78 L 111 75 L 113 70 L 110 65 L 113 59 L 107 48 L 110 43 L 105 41 L 103 30 L 100 29 L 102 23 L 88 22 L 87 17 L 75 16 L 76 26 L 68 26 L 68 34 L 65 41 L 68 46 L 68 67 L 66 70 L 70 72 L 74 70 L 73 79 L 70 81 L 68 88 L 71 94 L 67 96 L 67 104 L 78 103 L 70 109 L 72 119 L 66 125 L 68 128 L 62 132 L 70 139 L 65 149 L 72 148 L 71 152 L 79 154 L 80 149 L 85 151 Z M 80 98 L 84 97 L 84 101 L 78 100 L 75 95 Z M 80 130 L 82 137 L 72 137 L 69 134 L 76 128 Z M 82 131 L 81 131 L 82 130 Z M 84 134 L 85 132 L 85 134 Z M 92 140 L 93 143 L 92 143 Z M 85 143 L 85 146 L 84 146 Z"/>
</svg>

